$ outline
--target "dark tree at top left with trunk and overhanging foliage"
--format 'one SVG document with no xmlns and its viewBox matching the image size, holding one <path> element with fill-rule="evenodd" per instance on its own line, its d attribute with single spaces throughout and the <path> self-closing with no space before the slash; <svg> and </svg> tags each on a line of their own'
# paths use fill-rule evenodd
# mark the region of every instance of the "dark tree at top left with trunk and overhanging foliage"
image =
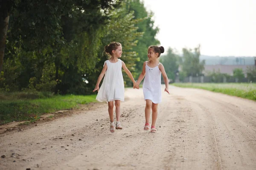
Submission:
<svg viewBox="0 0 256 170">
<path fill-rule="evenodd" d="M 118 2 L 116 0 L 2 0 L 0 2 L 0 71 L 3 66 L 9 18 L 8 41 L 13 42 L 15 48 L 20 45 L 26 51 L 41 51 L 49 45 L 65 42 L 62 37 L 62 17 L 72 17 L 76 11 L 80 11 L 90 14 L 88 17 L 90 23 L 104 24 L 107 17 L 103 17 L 102 13 L 114 8 Z M 95 20 L 91 20 L 92 18 Z M 15 43 L 17 39 L 21 41 L 20 44 Z"/>
</svg>

